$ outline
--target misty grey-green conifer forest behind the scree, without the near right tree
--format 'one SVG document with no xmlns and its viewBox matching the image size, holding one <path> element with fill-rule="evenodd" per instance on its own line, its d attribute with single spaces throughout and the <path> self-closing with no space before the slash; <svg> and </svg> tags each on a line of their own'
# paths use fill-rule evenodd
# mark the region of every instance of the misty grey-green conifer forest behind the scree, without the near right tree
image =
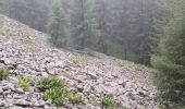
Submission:
<svg viewBox="0 0 185 109">
<path fill-rule="evenodd" d="M 2 13 L 48 33 L 58 47 L 89 48 L 149 64 L 157 0 L 2 0 Z"/>
</svg>

